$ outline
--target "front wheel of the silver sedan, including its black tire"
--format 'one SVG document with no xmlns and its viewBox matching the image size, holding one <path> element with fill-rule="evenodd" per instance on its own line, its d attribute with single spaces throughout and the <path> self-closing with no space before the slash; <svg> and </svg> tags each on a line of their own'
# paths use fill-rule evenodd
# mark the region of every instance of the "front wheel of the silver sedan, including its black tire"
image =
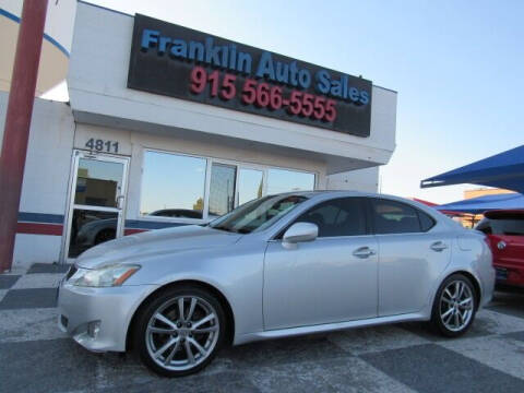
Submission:
<svg viewBox="0 0 524 393">
<path fill-rule="evenodd" d="M 227 327 L 221 302 L 207 290 L 193 285 L 171 287 L 139 311 L 134 347 L 152 371 L 183 377 L 213 360 Z"/>
</svg>

